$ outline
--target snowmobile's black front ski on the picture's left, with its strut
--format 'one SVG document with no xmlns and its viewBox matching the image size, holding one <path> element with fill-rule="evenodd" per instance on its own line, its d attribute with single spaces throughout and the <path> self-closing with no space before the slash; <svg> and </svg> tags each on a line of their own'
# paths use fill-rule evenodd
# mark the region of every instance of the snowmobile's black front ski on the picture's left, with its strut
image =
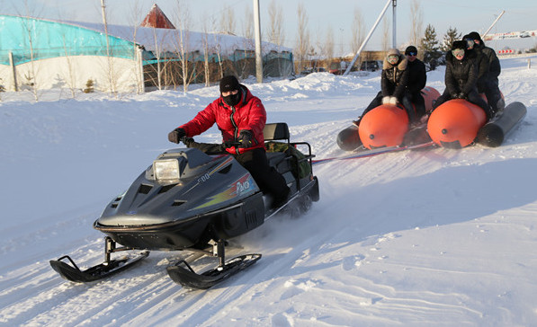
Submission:
<svg viewBox="0 0 537 327">
<path fill-rule="evenodd" d="M 56 270 L 58 274 L 66 278 L 67 280 L 74 281 L 77 283 L 86 283 L 90 281 L 99 280 L 102 278 L 107 278 L 112 274 L 120 272 L 121 270 L 126 270 L 130 268 L 133 264 L 141 261 L 149 255 L 148 251 L 140 252 L 137 256 L 124 257 L 121 259 L 111 260 L 110 255 L 112 252 L 121 252 L 133 250 L 130 248 L 120 247 L 116 248 L 115 242 L 109 236 L 104 238 L 105 249 L 104 249 L 104 261 L 98 265 L 88 268 L 87 270 L 80 270 L 76 266 L 75 261 L 71 259 L 68 255 L 58 258 L 58 260 L 49 261 L 50 266 L 53 270 Z M 64 260 L 69 261 L 71 264 L 68 264 Z"/>
</svg>

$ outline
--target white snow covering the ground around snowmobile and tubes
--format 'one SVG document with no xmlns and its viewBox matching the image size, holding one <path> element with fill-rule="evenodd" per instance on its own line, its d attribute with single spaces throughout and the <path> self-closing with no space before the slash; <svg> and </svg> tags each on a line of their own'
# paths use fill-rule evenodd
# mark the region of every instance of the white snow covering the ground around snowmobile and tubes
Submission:
<svg viewBox="0 0 537 327">
<path fill-rule="evenodd" d="M 536 57 L 532 59 L 535 60 Z M 503 146 L 398 152 L 316 165 L 321 198 L 232 240 L 263 253 L 209 290 L 175 284 L 184 252 L 151 252 L 132 270 L 75 284 L 50 269 L 69 254 L 103 260 L 94 220 L 159 153 L 167 133 L 218 87 L 122 95 L 0 93 L 0 325 L 537 325 L 537 66 L 502 59 L 506 102 L 528 114 Z M 443 91 L 443 68 L 428 85 Z M 378 72 L 255 84 L 270 122 L 318 158 L 380 88 Z M 218 142 L 211 128 L 197 140 Z"/>
</svg>

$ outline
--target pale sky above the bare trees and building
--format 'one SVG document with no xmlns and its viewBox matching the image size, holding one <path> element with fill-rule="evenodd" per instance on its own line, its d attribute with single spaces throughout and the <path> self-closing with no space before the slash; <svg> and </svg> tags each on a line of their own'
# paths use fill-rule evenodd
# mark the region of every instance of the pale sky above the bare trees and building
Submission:
<svg viewBox="0 0 537 327">
<path fill-rule="evenodd" d="M 367 35 L 373 23 L 377 20 L 382 8 L 387 3 L 385 0 L 375 1 L 351 1 L 351 0 L 259 0 L 261 7 L 262 31 L 268 30 L 269 17 L 267 8 L 275 3 L 282 8 L 283 31 L 285 33 L 284 45 L 293 48 L 296 43 L 297 31 L 297 7 L 304 4 L 309 19 L 310 42 L 314 45 L 322 44 L 327 40 L 327 30 L 331 29 L 334 35 L 336 53 L 350 51 L 352 38 L 354 11 L 360 11 L 363 19 L 363 35 Z M 506 13 L 490 31 L 533 31 L 537 30 L 534 17 L 537 14 L 537 3 L 531 0 L 418 0 L 422 13 L 423 31 L 427 24 L 432 24 L 442 39 L 443 34 L 450 27 L 457 28 L 463 34 L 470 31 L 487 31 L 502 11 Z M 107 15 L 110 23 L 132 25 L 133 22 L 141 22 L 151 6 L 156 3 L 166 15 L 176 22 L 178 16 L 179 1 L 177 0 L 105 0 Z M 202 22 L 211 20 L 220 21 L 226 12 L 225 6 L 232 8 L 236 20 L 236 34 L 243 35 L 244 19 L 248 10 L 252 10 L 253 0 L 183 0 L 181 8 L 188 8 L 192 16 L 192 30 L 202 31 Z M 397 1 L 396 25 L 398 47 L 407 44 L 410 38 L 411 16 L 410 7 L 413 0 Z M 43 18 L 63 18 L 67 20 L 83 22 L 102 22 L 101 0 L 80 2 L 78 0 L 0 0 L 0 13 L 23 14 Z M 506 5 L 508 4 L 508 6 Z M 26 9 L 31 8 L 31 9 Z M 385 17 L 389 20 L 389 32 L 391 33 L 392 9 L 387 11 Z M 366 49 L 381 49 L 382 47 L 381 22 L 373 33 Z M 392 36 L 389 36 L 391 45 Z M 496 49 L 505 47 L 513 49 L 533 48 L 537 40 L 509 40 L 491 41 L 489 46 Z"/>
</svg>

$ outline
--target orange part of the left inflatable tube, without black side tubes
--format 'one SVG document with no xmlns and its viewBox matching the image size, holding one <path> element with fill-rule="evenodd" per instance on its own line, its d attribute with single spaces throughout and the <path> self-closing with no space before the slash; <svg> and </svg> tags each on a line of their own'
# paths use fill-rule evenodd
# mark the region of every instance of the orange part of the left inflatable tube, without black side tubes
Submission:
<svg viewBox="0 0 537 327">
<path fill-rule="evenodd" d="M 421 91 L 425 100 L 425 111 L 433 109 L 433 102 L 440 93 L 433 87 Z M 414 108 L 412 109 L 414 110 Z M 407 110 L 399 104 L 382 104 L 366 113 L 360 121 L 358 133 L 363 146 L 368 149 L 400 146 L 408 131 Z"/>
</svg>

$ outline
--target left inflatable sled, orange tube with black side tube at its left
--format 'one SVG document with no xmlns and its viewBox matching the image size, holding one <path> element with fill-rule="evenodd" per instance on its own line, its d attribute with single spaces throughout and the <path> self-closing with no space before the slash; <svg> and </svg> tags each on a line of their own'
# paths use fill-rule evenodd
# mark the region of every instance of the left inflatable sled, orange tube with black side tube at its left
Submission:
<svg viewBox="0 0 537 327">
<path fill-rule="evenodd" d="M 425 100 L 425 112 L 429 112 L 440 93 L 429 86 L 421 93 Z M 408 131 L 407 110 L 401 104 L 382 104 L 363 115 L 360 128 L 345 128 L 337 135 L 336 141 L 345 151 L 353 151 L 360 146 L 368 149 L 400 146 L 407 140 Z"/>
</svg>

